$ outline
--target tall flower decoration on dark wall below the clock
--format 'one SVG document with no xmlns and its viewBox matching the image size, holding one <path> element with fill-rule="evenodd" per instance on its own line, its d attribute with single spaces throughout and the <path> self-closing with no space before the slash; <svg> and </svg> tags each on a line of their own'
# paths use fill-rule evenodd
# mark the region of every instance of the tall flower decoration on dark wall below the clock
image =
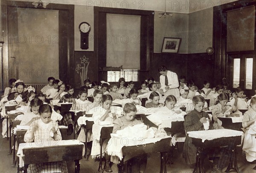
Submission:
<svg viewBox="0 0 256 173">
<path fill-rule="evenodd" d="M 78 63 L 76 64 L 76 72 L 79 74 L 80 69 L 80 80 L 81 80 L 81 86 L 84 86 L 84 81 L 85 79 L 87 79 L 87 72 L 88 72 L 88 66 L 89 66 L 89 58 L 86 58 L 85 56 L 83 56 L 82 58 L 80 58 L 81 60 L 81 64 Z"/>
</svg>

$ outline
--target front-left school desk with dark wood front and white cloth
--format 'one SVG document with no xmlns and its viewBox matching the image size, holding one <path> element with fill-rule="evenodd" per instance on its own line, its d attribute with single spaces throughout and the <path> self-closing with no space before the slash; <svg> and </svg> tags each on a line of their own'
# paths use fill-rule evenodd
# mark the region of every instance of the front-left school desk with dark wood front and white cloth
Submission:
<svg viewBox="0 0 256 173">
<path fill-rule="evenodd" d="M 79 173 L 83 148 L 84 144 L 78 140 L 47 141 L 43 144 L 22 143 L 19 144 L 17 156 L 24 173 L 27 173 L 29 164 L 70 160 L 75 161 L 75 173 Z"/>
</svg>

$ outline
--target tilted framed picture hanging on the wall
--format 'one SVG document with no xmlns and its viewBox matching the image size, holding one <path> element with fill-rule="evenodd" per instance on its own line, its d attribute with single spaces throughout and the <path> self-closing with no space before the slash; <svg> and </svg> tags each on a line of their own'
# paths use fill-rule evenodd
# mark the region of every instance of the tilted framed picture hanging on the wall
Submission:
<svg viewBox="0 0 256 173">
<path fill-rule="evenodd" d="M 181 38 L 164 37 L 162 53 L 178 53 L 180 49 Z"/>
</svg>

